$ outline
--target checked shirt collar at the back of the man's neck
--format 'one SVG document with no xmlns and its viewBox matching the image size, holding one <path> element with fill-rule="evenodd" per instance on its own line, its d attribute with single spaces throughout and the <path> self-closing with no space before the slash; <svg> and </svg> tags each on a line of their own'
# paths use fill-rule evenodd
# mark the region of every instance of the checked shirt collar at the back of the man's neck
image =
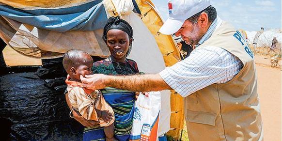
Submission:
<svg viewBox="0 0 282 141">
<path fill-rule="evenodd" d="M 221 25 L 221 23 L 222 23 L 222 20 L 220 19 L 219 16 L 217 16 L 217 18 L 211 23 L 211 25 L 209 26 L 208 30 L 205 32 L 204 36 L 201 38 L 199 43 L 196 45 L 196 47 L 200 46 L 207 39 L 209 39 L 212 33 Z"/>
</svg>

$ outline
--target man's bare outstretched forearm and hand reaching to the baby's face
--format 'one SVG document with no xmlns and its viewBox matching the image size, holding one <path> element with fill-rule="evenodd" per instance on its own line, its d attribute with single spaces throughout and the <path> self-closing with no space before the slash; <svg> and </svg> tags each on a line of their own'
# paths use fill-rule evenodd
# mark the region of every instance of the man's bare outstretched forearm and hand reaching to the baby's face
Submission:
<svg viewBox="0 0 282 141">
<path fill-rule="evenodd" d="M 83 87 L 97 90 L 105 87 L 114 87 L 118 89 L 134 91 L 134 92 L 149 92 L 172 89 L 159 74 L 148 75 L 133 75 L 133 76 L 107 76 L 102 74 L 94 74 L 80 76 Z"/>
</svg>

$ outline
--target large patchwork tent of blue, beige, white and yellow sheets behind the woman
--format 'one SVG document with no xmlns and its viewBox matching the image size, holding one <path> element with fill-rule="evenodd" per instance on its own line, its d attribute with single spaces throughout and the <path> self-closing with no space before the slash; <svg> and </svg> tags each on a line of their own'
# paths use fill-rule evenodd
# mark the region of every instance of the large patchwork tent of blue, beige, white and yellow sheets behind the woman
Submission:
<svg viewBox="0 0 282 141">
<path fill-rule="evenodd" d="M 150 0 L 0 0 L 0 37 L 34 58 L 62 57 L 73 48 L 107 58 L 103 26 L 108 17 L 117 15 L 133 28 L 128 58 L 141 72 L 158 73 L 181 60 L 172 36 L 158 32 L 163 20 Z M 167 135 L 178 139 L 184 123 L 183 99 L 174 91 L 161 93 L 158 135 L 170 130 Z"/>
</svg>

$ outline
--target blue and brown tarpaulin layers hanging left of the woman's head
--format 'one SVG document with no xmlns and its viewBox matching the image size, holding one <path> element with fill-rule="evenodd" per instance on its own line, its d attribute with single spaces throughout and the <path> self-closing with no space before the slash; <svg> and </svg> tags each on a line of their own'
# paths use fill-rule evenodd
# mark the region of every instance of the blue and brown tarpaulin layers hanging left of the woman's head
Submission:
<svg viewBox="0 0 282 141">
<path fill-rule="evenodd" d="M 0 2 L 0 37 L 21 54 L 57 58 L 77 48 L 93 56 L 110 55 L 101 37 L 108 19 L 102 0 Z"/>
</svg>

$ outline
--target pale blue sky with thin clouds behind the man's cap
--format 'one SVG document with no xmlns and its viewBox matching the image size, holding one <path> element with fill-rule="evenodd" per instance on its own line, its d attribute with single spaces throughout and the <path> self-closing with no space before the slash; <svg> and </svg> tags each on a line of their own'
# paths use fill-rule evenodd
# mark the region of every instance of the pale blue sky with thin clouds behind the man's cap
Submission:
<svg viewBox="0 0 282 141">
<path fill-rule="evenodd" d="M 152 0 L 162 18 L 168 18 L 168 0 Z M 211 0 L 218 16 L 237 29 L 281 29 L 281 0 Z"/>
</svg>

